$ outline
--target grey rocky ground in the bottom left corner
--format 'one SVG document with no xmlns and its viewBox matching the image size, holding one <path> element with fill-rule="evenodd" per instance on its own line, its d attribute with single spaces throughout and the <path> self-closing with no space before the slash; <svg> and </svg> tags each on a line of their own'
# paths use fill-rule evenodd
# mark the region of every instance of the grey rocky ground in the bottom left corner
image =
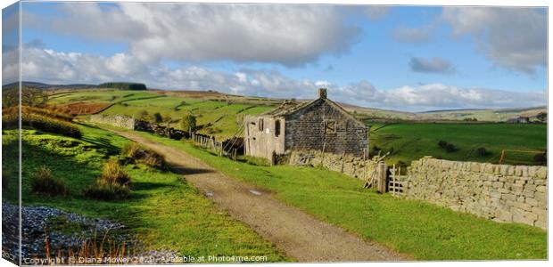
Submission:
<svg viewBox="0 0 553 267">
<path fill-rule="evenodd" d="M 14 255 L 12 262 L 17 262 L 17 253 L 13 252 L 17 252 L 19 246 L 18 210 L 16 205 L 2 204 L 2 246 L 4 253 Z M 139 250 L 135 239 L 117 233 L 117 230 L 125 227 L 121 223 L 66 213 L 47 206 L 22 206 L 21 220 L 23 259 L 45 258 L 46 243 L 49 243 L 52 255 L 59 251 L 65 254 L 67 251 L 77 251 L 84 241 L 101 240 L 106 233 L 109 233 L 109 239 L 115 244 L 125 242 L 128 249 L 133 247 L 133 250 Z M 145 251 L 132 256 L 148 258 L 152 263 L 163 263 L 175 254 L 171 251 Z"/>
</svg>

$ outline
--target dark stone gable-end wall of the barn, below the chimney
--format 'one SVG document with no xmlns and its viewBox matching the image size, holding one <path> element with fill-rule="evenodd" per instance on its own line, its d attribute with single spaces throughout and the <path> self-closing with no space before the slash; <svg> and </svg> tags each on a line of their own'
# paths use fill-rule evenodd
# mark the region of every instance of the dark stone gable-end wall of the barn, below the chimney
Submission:
<svg viewBox="0 0 553 267">
<path fill-rule="evenodd" d="M 334 130 L 329 130 L 327 124 L 334 125 Z M 324 150 L 363 157 L 367 136 L 367 126 L 359 125 L 324 99 L 286 117 L 286 150 Z"/>
</svg>

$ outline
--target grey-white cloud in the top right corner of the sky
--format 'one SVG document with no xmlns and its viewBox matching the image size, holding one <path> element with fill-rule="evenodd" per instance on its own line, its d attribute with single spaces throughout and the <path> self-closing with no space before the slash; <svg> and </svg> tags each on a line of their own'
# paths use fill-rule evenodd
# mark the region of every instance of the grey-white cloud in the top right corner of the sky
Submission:
<svg viewBox="0 0 553 267">
<path fill-rule="evenodd" d="M 547 10 L 520 7 L 444 7 L 453 34 L 470 34 L 495 64 L 532 74 L 547 64 Z"/>
</svg>

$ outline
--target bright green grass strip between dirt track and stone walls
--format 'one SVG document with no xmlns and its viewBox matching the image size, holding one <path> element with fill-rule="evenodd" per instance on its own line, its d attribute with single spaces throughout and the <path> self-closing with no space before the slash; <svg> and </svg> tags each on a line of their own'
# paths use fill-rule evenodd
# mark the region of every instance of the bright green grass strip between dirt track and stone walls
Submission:
<svg viewBox="0 0 553 267">
<path fill-rule="evenodd" d="M 265 190 L 323 221 L 334 223 L 418 260 L 544 259 L 547 232 L 516 223 L 495 223 L 422 201 L 363 190 L 362 182 L 327 170 L 254 166 L 219 158 L 153 134 L 136 132 Z"/>
</svg>

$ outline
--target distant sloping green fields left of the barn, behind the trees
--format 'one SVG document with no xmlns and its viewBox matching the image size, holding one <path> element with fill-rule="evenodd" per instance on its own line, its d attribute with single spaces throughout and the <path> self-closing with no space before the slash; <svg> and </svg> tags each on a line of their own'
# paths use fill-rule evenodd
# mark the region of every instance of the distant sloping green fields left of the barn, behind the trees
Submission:
<svg viewBox="0 0 553 267">
<path fill-rule="evenodd" d="M 150 115 L 160 112 L 163 117 L 171 117 L 172 127 L 179 128 L 178 120 L 187 114 L 197 118 L 197 125 L 204 125 L 201 134 L 216 136 L 219 140 L 232 137 L 242 125 L 243 115 L 259 114 L 271 105 L 240 103 L 233 98 L 205 100 L 203 98 L 168 96 L 155 92 L 136 91 L 83 91 L 54 94 L 48 101 L 52 105 L 71 102 L 95 102 L 113 104 L 103 110 L 106 115 L 127 115 L 133 117 L 140 110 Z M 164 123 L 165 125 L 167 123 Z"/>
</svg>

